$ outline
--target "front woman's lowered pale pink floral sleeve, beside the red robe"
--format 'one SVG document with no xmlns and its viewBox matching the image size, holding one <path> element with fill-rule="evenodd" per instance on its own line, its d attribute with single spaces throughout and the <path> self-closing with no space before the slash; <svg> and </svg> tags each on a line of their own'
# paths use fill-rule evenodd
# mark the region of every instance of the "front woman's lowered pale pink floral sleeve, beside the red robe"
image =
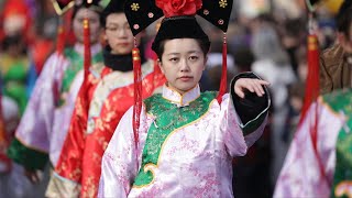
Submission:
<svg viewBox="0 0 352 198">
<path fill-rule="evenodd" d="M 139 168 L 132 114 L 133 108 L 130 108 L 102 156 L 98 197 L 128 197 L 132 188 Z"/>
</svg>

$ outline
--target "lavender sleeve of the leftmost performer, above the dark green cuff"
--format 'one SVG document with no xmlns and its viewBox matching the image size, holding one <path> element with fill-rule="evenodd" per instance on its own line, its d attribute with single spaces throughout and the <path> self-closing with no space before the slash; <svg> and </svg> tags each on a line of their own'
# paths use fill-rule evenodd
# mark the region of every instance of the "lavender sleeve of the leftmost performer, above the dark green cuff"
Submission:
<svg viewBox="0 0 352 198">
<path fill-rule="evenodd" d="M 61 67 L 67 64 L 68 62 L 65 58 L 56 54 L 53 54 L 45 63 L 15 132 L 15 138 L 23 145 L 37 151 L 50 151 L 56 108 L 55 101 L 58 99 L 57 76 L 61 74 Z M 30 158 L 29 156 L 19 157 L 23 158 L 21 162 L 26 162 L 24 158 Z"/>
</svg>

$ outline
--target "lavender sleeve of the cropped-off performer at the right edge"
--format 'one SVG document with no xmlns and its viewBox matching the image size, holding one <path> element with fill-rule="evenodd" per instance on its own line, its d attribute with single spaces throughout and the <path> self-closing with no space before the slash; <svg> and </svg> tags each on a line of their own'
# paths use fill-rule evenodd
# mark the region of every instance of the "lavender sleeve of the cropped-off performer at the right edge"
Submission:
<svg viewBox="0 0 352 198">
<path fill-rule="evenodd" d="M 344 118 L 324 105 L 312 103 L 295 133 L 277 178 L 274 198 L 329 197 L 336 170 L 336 146 Z M 317 109 L 318 108 L 318 109 Z M 317 111 L 319 113 L 317 113 Z M 311 129 L 318 116 L 317 147 Z M 323 174 L 321 172 L 323 169 Z"/>
</svg>

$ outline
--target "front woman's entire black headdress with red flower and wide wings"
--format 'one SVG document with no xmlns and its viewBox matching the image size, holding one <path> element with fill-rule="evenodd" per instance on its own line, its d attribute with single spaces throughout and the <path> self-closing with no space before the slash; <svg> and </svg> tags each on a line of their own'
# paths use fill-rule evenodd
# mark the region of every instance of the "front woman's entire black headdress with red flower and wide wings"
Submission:
<svg viewBox="0 0 352 198">
<path fill-rule="evenodd" d="M 143 4 L 139 1 L 142 1 Z M 182 37 L 201 40 L 209 48 L 209 37 L 198 24 L 195 15 L 205 18 L 226 32 L 232 3 L 233 0 L 156 0 L 155 2 L 153 0 L 128 0 L 125 13 L 134 35 L 165 15 L 152 45 L 154 52 L 157 51 L 162 41 Z"/>
</svg>

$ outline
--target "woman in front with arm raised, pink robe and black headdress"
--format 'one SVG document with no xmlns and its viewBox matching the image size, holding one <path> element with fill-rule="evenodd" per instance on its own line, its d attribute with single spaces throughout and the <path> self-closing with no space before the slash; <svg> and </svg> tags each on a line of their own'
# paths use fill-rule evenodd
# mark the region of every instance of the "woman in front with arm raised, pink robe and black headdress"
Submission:
<svg viewBox="0 0 352 198">
<path fill-rule="evenodd" d="M 245 155 L 263 132 L 268 82 L 241 74 L 226 94 L 224 34 L 220 91 L 200 92 L 210 41 L 195 18 L 197 12 L 226 32 L 232 3 L 127 1 L 134 35 L 164 12 L 152 48 L 167 82 L 143 102 L 136 97 L 122 117 L 102 157 L 98 197 L 233 196 L 232 158 Z"/>
</svg>

